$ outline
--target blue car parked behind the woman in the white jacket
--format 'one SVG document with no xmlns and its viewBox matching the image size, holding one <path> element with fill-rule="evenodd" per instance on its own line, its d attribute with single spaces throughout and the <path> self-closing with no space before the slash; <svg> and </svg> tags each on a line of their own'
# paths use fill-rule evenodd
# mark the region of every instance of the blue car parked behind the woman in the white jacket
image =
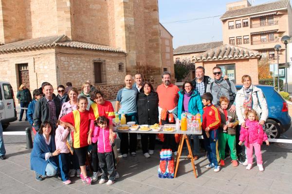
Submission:
<svg viewBox="0 0 292 194">
<path fill-rule="evenodd" d="M 288 114 L 288 105 L 286 100 L 274 90 L 270 85 L 256 85 L 260 88 L 268 104 L 269 115 L 265 123 L 264 130 L 269 138 L 279 138 L 281 133 L 287 131 L 291 126 L 291 117 Z M 236 85 L 237 90 L 242 85 Z"/>
</svg>

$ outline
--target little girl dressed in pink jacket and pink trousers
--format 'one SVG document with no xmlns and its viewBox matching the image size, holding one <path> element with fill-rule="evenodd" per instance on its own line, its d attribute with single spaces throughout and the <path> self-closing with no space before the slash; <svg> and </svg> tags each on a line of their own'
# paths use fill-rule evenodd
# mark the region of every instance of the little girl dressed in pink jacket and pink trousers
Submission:
<svg viewBox="0 0 292 194">
<path fill-rule="evenodd" d="M 253 148 L 255 148 L 256 163 L 259 171 L 264 171 L 263 161 L 260 146 L 263 141 L 269 146 L 268 136 L 263 130 L 263 127 L 258 124 L 258 115 L 255 110 L 248 110 L 246 113 L 245 128 L 241 127 L 239 136 L 239 145 L 245 142 L 247 154 L 247 170 L 252 169 L 253 166 Z"/>
</svg>

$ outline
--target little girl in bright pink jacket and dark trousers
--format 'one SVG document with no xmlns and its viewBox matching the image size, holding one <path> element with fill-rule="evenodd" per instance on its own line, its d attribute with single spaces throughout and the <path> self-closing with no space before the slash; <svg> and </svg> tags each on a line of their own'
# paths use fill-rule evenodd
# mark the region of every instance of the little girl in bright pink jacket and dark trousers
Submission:
<svg viewBox="0 0 292 194">
<path fill-rule="evenodd" d="M 95 127 L 93 129 L 92 143 L 97 141 L 97 156 L 99 160 L 99 166 L 102 170 L 102 176 L 99 184 L 103 184 L 106 181 L 107 185 L 111 185 L 115 180 L 113 158 L 111 154 L 110 142 L 110 129 L 109 119 L 105 116 L 100 116 L 95 121 Z M 110 178 L 108 180 L 108 174 Z"/>
</svg>

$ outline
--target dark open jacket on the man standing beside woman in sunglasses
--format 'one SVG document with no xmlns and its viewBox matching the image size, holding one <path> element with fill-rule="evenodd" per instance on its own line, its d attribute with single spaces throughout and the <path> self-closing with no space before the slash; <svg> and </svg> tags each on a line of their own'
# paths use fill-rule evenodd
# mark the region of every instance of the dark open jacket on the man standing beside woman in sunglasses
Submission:
<svg viewBox="0 0 292 194">
<path fill-rule="evenodd" d="M 57 119 L 59 118 L 59 114 L 61 111 L 61 106 L 60 106 L 60 101 L 54 97 L 53 101 L 55 103 L 56 107 L 56 117 Z M 42 97 L 36 102 L 36 107 L 35 107 L 35 113 L 34 113 L 34 127 L 36 130 L 39 129 L 40 124 L 44 122 L 45 120 L 50 122 L 50 110 L 49 110 L 49 105 L 47 102 L 46 97 Z"/>
</svg>

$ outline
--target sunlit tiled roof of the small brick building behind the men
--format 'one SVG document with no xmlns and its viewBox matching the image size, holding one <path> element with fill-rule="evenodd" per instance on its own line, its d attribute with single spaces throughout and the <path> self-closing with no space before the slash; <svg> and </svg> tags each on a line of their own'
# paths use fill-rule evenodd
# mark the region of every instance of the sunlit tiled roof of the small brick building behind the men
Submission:
<svg viewBox="0 0 292 194">
<path fill-rule="evenodd" d="M 223 45 L 218 48 L 207 50 L 193 57 L 193 61 L 213 61 L 228 59 L 258 58 L 260 54 L 256 50 L 245 49 L 234 45 Z"/>
</svg>

